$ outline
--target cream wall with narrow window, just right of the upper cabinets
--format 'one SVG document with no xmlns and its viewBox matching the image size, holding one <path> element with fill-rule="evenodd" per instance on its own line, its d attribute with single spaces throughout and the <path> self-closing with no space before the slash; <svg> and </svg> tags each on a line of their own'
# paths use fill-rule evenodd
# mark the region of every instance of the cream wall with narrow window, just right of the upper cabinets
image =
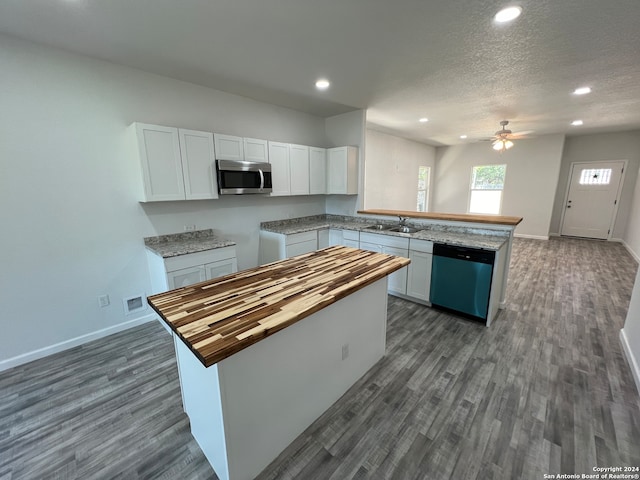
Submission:
<svg viewBox="0 0 640 480">
<path fill-rule="evenodd" d="M 418 167 L 431 167 L 433 176 L 435 147 L 371 129 L 366 131 L 366 144 L 364 208 L 415 211 Z"/>
</svg>

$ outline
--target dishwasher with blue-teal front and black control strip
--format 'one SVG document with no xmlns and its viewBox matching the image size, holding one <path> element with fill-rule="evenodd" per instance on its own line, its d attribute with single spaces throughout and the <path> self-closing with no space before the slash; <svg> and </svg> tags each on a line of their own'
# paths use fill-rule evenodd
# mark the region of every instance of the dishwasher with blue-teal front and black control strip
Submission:
<svg viewBox="0 0 640 480">
<path fill-rule="evenodd" d="M 434 243 L 431 304 L 485 322 L 495 252 Z"/>
</svg>

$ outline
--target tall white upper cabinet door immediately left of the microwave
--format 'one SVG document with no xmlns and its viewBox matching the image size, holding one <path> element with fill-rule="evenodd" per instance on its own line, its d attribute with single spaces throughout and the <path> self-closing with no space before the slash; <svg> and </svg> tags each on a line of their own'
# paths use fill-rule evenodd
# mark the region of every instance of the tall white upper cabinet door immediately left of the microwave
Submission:
<svg viewBox="0 0 640 480">
<path fill-rule="evenodd" d="M 187 200 L 218 198 L 215 175 L 213 134 L 195 130 L 178 130 L 182 174 Z"/>
</svg>

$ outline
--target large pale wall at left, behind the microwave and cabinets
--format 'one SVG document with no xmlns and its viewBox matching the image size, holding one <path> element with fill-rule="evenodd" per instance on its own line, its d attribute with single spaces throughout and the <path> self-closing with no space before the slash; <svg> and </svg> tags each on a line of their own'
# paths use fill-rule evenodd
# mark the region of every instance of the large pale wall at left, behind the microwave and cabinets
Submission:
<svg viewBox="0 0 640 480">
<path fill-rule="evenodd" d="M 126 135 L 141 121 L 328 146 L 322 118 L 6 36 L 0 65 L 0 369 L 131 320 L 122 298 L 150 290 L 145 236 L 214 228 L 246 268 L 260 221 L 325 211 L 324 196 L 140 204 Z"/>
</svg>

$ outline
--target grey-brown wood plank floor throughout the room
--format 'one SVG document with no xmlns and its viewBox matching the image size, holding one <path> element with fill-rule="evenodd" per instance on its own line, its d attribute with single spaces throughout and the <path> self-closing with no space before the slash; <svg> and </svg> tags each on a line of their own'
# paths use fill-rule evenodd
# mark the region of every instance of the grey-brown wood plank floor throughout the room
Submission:
<svg viewBox="0 0 640 480">
<path fill-rule="evenodd" d="M 621 350 L 637 265 L 617 243 L 516 239 L 491 328 L 389 297 L 387 355 L 270 479 L 541 479 L 640 466 Z M 0 480 L 217 478 L 150 323 L 0 373 Z"/>
</svg>

